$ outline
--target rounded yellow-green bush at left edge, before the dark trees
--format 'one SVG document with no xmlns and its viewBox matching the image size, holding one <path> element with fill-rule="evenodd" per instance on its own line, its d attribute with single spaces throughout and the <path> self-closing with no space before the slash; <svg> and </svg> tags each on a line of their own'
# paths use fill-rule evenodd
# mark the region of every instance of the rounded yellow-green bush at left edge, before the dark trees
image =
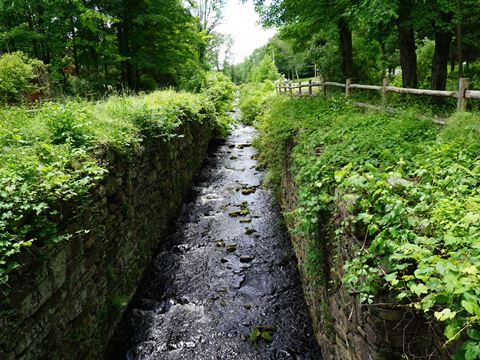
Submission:
<svg viewBox="0 0 480 360">
<path fill-rule="evenodd" d="M 4 54 L 0 57 L 0 102 L 18 103 L 38 89 L 34 84 L 34 68 L 42 62 L 29 59 L 22 52 Z"/>
</svg>

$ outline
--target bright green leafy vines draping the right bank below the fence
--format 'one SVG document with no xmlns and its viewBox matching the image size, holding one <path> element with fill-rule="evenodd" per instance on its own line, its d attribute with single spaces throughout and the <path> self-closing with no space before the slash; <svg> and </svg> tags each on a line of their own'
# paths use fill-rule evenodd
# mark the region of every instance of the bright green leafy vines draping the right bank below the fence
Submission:
<svg viewBox="0 0 480 360">
<path fill-rule="evenodd" d="M 361 301 L 386 296 L 444 323 L 446 342 L 463 343 L 456 357 L 477 359 L 480 116 L 439 128 L 413 115 L 361 113 L 344 99 L 276 97 L 258 126 L 277 184 L 295 140 L 297 230 L 314 234 L 328 215 L 330 246 L 353 241 L 344 286 Z"/>
</svg>

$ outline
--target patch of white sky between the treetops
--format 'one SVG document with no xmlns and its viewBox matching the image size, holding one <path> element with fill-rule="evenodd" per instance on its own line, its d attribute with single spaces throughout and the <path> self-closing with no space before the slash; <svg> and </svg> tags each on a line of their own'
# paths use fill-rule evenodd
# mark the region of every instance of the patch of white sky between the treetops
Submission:
<svg viewBox="0 0 480 360">
<path fill-rule="evenodd" d="M 275 34 L 274 29 L 263 29 L 258 24 L 259 19 L 251 1 L 242 4 L 240 0 L 227 0 L 218 31 L 232 35 L 235 41 L 232 47 L 235 64 L 241 63 Z"/>
</svg>

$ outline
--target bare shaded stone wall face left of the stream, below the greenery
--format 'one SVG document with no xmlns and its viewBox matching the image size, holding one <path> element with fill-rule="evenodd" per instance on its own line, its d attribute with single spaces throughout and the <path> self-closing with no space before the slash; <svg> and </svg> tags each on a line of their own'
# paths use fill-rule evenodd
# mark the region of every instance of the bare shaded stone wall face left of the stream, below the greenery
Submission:
<svg viewBox="0 0 480 360">
<path fill-rule="evenodd" d="M 100 359 L 166 235 L 211 138 L 185 122 L 133 159 L 108 150 L 108 177 L 81 203 L 58 204 L 69 241 L 23 254 L 0 316 L 0 359 Z M 3 294 L 2 296 L 5 296 Z"/>
</svg>

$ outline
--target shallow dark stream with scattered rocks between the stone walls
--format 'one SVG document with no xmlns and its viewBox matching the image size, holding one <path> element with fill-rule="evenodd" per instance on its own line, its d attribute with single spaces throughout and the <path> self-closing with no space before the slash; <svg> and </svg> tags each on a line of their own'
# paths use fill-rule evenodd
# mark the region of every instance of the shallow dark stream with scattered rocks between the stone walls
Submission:
<svg viewBox="0 0 480 360">
<path fill-rule="evenodd" d="M 320 359 L 254 136 L 238 125 L 207 156 L 129 306 L 115 358 Z"/>
</svg>

